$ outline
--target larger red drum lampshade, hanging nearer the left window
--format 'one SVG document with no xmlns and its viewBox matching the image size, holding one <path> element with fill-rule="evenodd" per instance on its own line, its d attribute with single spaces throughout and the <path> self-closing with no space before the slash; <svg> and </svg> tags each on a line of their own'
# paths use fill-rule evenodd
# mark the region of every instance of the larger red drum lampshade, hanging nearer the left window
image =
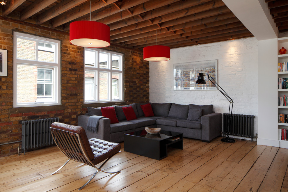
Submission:
<svg viewBox="0 0 288 192">
<path fill-rule="evenodd" d="M 96 21 L 74 21 L 70 23 L 70 43 L 80 47 L 107 47 L 110 27 Z"/>
</svg>

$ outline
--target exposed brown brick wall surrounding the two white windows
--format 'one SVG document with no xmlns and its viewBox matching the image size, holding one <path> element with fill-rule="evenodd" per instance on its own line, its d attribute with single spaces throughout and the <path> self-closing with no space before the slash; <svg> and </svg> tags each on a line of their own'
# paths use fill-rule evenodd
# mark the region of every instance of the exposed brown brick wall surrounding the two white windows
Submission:
<svg viewBox="0 0 288 192">
<path fill-rule="evenodd" d="M 62 41 L 62 106 L 13 108 L 13 30 Z M 77 125 L 78 116 L 87 111 L 87 105 L 83 106 L 83 47 L 71 45 L 68 33 L 9 18 L 0 19 L 0 31 L 0 49 L 8 50 L 8 76 L 0 76 L 0 143 L 22 139 L 22 120 L 59 117 L 60 122 Z M 116 45 L 105 49 L 124 54 L 125 103 L 149 102 L 149 62 L 143 60 L 143 52 Z M 112 104 L 91 104 L 97 105 Z M 16 154 L 18 146 L 21 142 L 0 145 L 0 157 Z"/>
</svg>

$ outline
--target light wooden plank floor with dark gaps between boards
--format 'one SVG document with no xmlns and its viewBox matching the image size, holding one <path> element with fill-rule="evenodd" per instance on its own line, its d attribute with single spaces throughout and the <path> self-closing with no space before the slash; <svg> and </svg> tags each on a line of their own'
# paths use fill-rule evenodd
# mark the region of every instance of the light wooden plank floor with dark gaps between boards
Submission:
<svg viewBox="0 0 288 192">
<path fill-rule="evenodd" d="M 123 151 L 81 191 L 288 191 L 288 149 L 256 142 L 184 138 L 161 161 Z M 136 146 L 135 146 L 136 147 Z M 67 161 L 57 147 L 0 158 L 0 191 L 78 191 L 96 169 Z"/>
</svg>

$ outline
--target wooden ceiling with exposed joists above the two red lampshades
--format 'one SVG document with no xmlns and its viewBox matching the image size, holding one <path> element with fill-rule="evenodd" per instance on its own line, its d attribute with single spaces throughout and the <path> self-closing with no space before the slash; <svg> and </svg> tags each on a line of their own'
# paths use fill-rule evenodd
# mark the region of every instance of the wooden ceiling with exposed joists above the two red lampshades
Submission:
<svg viewBox="0 0 288 192">
<path fill-rule="evenodd" d="M 221 0 L 91 0 L 91 7 L 89 0 L 7 0 L 1 7 L 4 18 L 64 31 L 91 15 L 110 26 L 111 43 L 140 50 L 253 36 Z"/>
</svg>

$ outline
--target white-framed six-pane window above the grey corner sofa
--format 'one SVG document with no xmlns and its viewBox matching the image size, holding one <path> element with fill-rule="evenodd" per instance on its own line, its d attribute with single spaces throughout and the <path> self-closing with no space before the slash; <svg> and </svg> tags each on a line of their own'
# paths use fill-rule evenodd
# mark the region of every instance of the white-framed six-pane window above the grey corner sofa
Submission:
<svg viewBox="0 0 288 192">
<path fill-rule="evenodd" d="M 84 103 L 123 101 L 123 54 L 84 49 Z"/>
</svg>

